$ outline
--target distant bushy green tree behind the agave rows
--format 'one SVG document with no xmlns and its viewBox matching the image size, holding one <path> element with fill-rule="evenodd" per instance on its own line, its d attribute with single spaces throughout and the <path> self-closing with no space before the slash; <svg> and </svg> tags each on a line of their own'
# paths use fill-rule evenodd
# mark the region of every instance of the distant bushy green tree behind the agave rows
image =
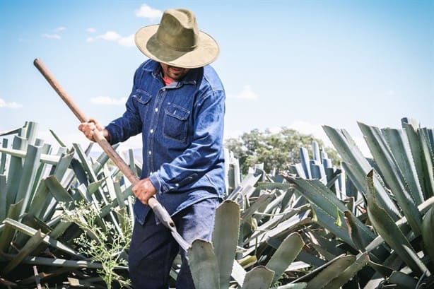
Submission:
<svg viewBox="0 0 434 289">
<path fill-rule="evenodd" d="M 263 163 L 265 172 L 285 171 L 289 165 L 300 162 L 300 148 L 305 147 L 312 153 L 312 141 L 317 141 L 334 163 L 339 163 L 339 156 L 333 148 L 324 148 L 324 143 L 311 134 L 300 134 L 295 129 L 282 127 L 272 133 L 269 129 L 253 129 L 237 138 L 228 138 L 225 148 L 233 152 L 240 162 L 240 170 L 245 175 L 249 167 Z M 310 155 L 312 157 L 312 155 Z"/>
</svg>

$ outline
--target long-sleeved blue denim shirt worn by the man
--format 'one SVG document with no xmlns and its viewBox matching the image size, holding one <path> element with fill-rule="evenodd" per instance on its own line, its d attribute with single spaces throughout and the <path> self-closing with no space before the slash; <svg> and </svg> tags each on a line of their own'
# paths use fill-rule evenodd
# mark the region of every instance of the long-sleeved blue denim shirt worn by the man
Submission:
<svg viewBox="0 0 434 289">
<path fill-rule="evenodd" d="M 134 74 L 126 107 L 122 117 L 105 127 L 110 143 L 142 134 L 141 179 L 149 177 L 170 215 L 223 196 L 225 91 L 211 66 L 191 69 L 181 81 L 165 85 L 160 64 L 145 61 Z M 136 199 L 140 223 L 149 210 Z"/>
</svg>

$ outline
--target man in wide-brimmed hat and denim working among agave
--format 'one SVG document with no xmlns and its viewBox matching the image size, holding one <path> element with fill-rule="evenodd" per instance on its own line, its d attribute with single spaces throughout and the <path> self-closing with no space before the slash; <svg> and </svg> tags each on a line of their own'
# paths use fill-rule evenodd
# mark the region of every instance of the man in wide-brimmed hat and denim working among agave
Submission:
<svg viewBox="0 0 434 289">
<path fill-rule="evenodd" d="M 142 134 L 143 170 L 132 188 L 136 222 L 129 273 L 136 289 L 168 288 L 180 247 L 146 204 L 155 196 L 187 242 L 211 241 L 225 188 L 225 91 L 208 65 L 217 58 L 218 45 L 199 30 L 192 11 L 168 9 L 159 25 L 138 30 L 135 42 L 150 59 L 136 70 L 127 110 L 105 128 L 92 120 L 79 129 L 90 140 L 98 129 L 112 144 Z M 181 255 L 176 288 L 194 288 L 185 252 Z"/>
</svg>

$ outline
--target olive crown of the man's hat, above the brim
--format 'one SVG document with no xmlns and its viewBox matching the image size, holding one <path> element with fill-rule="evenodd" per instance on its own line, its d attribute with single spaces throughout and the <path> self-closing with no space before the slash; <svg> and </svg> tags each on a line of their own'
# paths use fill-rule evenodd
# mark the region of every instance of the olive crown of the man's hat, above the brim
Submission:
<svg viewBox="0 0 434 289">
<path fill-rule="evenodd" d="M 199 42 L 196 17 L 187 9 L 166 10 L 156 34 L 158 41 L 180 52 L 194 50 Z"/>
</svg>

